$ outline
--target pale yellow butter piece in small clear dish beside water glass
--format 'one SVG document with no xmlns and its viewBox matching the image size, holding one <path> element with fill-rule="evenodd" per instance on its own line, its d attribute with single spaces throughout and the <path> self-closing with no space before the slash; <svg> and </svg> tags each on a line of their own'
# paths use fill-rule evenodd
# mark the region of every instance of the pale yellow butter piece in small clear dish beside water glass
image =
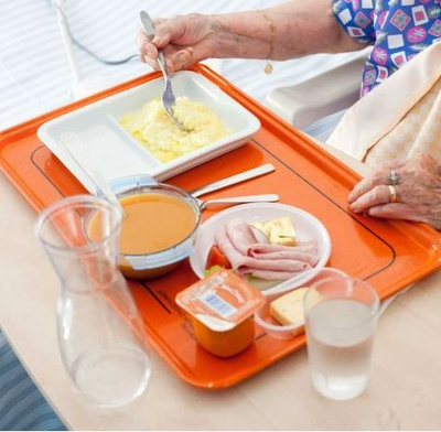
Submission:
<svg viewBox="0 0 441 432">
<path fill-rule="evenodd" d="M 298 288 L 297 290 L 280 296 L 269 305 L 269 314 L 281 325 L 304 325 L 304 311 L 303 311 L 303 298 L 306 294 L 308 288 Z M 312 292 L 311 300 L 316 303 L 321 295 L 316 292 Z M 299 333 L 302 327 L 299 328 Z"/>
</svg>

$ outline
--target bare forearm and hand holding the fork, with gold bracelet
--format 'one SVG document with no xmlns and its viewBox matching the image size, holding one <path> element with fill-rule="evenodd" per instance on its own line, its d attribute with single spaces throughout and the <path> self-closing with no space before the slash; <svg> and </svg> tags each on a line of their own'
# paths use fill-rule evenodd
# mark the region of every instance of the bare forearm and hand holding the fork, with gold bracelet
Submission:
<svg viewBox="0 0 441 432">
<path fill-rule="evenodd" d="M 263 10 L 161 18 L 154 20 L 155 37 L 149 42 L 140 31 L 137 42 L 141 60 L 154 68 L 158 48 L 162 48 L 169 72 L 206 58 L 267 60 L 271 55 L 282 61 L 362 50 L 364 45 L 337 23 L 331 6 L 330 0 L 295 0 Z M 270 30 L 270 23 L 276 30 Z"/>
</svg>

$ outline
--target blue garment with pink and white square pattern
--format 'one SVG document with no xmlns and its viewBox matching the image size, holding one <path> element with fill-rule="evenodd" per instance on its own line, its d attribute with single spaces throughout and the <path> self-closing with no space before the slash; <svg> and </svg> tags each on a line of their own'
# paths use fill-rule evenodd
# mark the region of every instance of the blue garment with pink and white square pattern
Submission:
<svg viewBox="0 0 441 432">
<path fill-rule="evenodd" d="M 361 96 L 419 52 L 441 41 L 441 0 L 333 0 L 345 31 L 374 48 L 363 73 Z"/>
</svg>

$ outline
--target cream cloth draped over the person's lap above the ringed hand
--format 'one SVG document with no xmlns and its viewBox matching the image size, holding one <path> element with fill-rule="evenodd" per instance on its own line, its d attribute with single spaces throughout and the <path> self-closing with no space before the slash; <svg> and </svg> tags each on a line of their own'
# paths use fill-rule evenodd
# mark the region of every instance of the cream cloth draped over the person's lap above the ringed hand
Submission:
<svg viewBox="0 0 441 432">
<path fill-rule="evenodd" d="M 441 43 L 351 107 L 327 143 L 369 166 L 429 153 L 441 162 Z"/>
</svg>

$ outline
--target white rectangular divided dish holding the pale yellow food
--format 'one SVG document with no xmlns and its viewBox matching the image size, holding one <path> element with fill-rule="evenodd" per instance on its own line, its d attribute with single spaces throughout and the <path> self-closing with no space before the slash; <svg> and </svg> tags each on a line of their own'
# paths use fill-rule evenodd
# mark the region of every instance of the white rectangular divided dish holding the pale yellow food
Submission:
<svg viewBox="0 0 441 432">
<path fill-rule="evenodd" d="M 93 184 L 60 142 L 63 132 L 72 131 L 80 138 L 76 159 L 86 171 L 98 170 L 106 181 L 127 175 L 150 174 L 165 180 L 196 166 L 219 154 L 245 144 L 260 128 L 259 120 L 240 104 L 226 95 L 219 87 L 194 72 L 173 75 L 173 91 L 187 96 L 213 110 L 229 132 L 225 138 L 202 149 L 162 163 L 132 138 L 118 122 L 122 115 L 139 110 L 144 104 L 159 98 L 163 79 L 158 78 L 109 96 L 94 104 L 50 120 L 37 131 L 39 138 L 66 165 L 66 168 L 92 193 Z"/>
</svg>

